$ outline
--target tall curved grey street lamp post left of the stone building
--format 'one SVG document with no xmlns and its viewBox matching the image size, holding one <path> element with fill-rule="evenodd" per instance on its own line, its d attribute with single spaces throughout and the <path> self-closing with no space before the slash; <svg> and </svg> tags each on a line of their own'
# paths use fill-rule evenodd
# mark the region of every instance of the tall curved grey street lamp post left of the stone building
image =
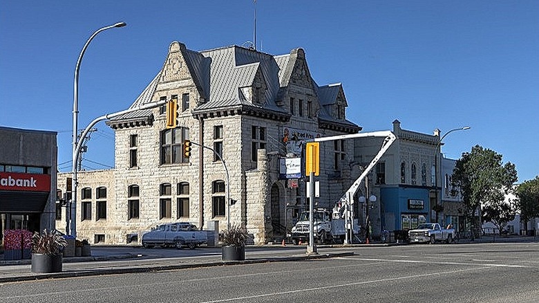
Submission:
<svg viewBox="0 0 539 303">
<path fill-rule="evenodd" d="M 113 24 L 111 26 L 105 26 L 103 28 L 100 28 L 98 30 L 96 30 L 91 36 L 90 38 L 88 38 L 88 40 L 86 41 L 86 44 L 84 44 L 84 46 L 82 47 L 82 50 L 79 54 L 79 59 L 77 59 L 77 65 L 75 66 L 75 81 L 74 81 L 74 84 L 73 84 L 73 153 L 71 155 L 71 172 L 73 174 L 73 192 L 71 194 L 72 196 L 72 199 L 71 199 L 71 202 L 70 202 L 70 214 L 69 214 L 69 217 L 70 217 L 70 231 L 68 232 L 68 230 L 66 230 L 66 233 L 68 233 L 69 235 L 73 236 L 73 237 L 77 237 L 77 228 L 76 228 L 76 221 L 77 219 L 75 218 L 75 215 L 76 215 L 76 209 L 77 209 L 77 158 L 78 158 L 78 154 L 77 154 L 77 130 L 78 130 L 78 115 L 79 115 L 79 108 L 78 108 L 78 103 L 79 103 L 79 69 L 80 69 L 80 64 L 82 62 L 82 56 L 84 55 L 84 52 L 86 51 L 86 48 L 88 48 L 88 44 L 90 44 L 90 42 L 93 40 L 93 38 L 101 33 L 102 31 L 104 30 L 108 30 L 108 29 L 111 29 L 111 28 L 121 28 L 123 26 L 126 26 L 126 23 L 125 22 L 118 22 L 116 24 Z M 84 138 L 80 138 L 80 140 L 84 140 Z"/>
</svg>

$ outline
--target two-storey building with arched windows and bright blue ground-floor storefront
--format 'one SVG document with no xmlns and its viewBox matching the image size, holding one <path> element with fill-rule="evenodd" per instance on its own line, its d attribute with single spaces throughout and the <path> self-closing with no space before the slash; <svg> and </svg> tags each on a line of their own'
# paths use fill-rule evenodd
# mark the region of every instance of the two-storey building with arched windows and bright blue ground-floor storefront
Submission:
<svg viewBox="0 0 539 303">
<path fill-rule="evenodd" d="M 377 197 L 369 205 L 359 203 L 356 210 L 363 222 L 369 215 L 374 237 L 381 230 L 408 230 L 419 223 L 435 221 L 434 164 L 439 134 L 401 129 L 399 120 L 393 122 L 393 134 L 397 140 L 368 175 L 368 186 L 357 194 Z M 382 141 L 381 138 L 354 139 L 354 171 L 370 163 Z"/>
</svg>

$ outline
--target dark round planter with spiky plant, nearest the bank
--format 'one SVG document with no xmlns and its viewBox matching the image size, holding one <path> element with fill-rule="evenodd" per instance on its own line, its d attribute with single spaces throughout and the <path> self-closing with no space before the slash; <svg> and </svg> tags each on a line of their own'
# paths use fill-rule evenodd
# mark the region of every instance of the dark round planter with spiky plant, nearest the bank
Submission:
<svg viewBox="0 0 539 303">
<path fill-rule="evenodd" d="M 35 232 L 32 237 L 32 273 L 59 273 L 62 271 L 62 248 L 67 242 L 55 230 Z"/>
</svg>

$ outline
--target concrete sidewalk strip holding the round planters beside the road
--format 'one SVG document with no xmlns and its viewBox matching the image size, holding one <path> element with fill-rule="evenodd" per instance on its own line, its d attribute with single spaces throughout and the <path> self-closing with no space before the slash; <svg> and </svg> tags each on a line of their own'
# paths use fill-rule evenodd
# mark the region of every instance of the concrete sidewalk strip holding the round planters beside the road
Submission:
<svg viewBox="0 0 539 303">
<path fill-rule="evenodd" d="M 305 259 L 325 259 L 353 255 L 353 252 L 335 252 L 319 255 L 298 254 L 275 257 L 267 254 L 245 254 L 245 261 L 222 261 L 220 255 L 142 259 L 142 255 L 109 254 L 93 257 L 64 257 L 62 273 L 32 273 L 30 260 L 0 261 L 0 283 L 31 281 L 36 279 L 59 279 L 66 277 L 84 277 L 93 275 L 113 275 L 121 273 L 144 273 L 159 270 L 227 266 L 235 264 L 256 264 L 281 261 L 299 261 Z"/>
</svg>

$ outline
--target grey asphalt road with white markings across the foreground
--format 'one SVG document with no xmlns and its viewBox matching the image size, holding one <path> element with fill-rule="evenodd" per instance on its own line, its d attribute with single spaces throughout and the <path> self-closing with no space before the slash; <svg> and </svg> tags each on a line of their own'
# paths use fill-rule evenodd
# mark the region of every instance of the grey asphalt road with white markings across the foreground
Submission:
<svg viewBox="0 0 539 303">
<path fill-rule="evenodd" d="M 337 250 L 321 248 L 320 252 Z M 334 259 L 0 285 L 0 302 L 538 302 L 539 244 L 339 248 Z"/>
</svg>

